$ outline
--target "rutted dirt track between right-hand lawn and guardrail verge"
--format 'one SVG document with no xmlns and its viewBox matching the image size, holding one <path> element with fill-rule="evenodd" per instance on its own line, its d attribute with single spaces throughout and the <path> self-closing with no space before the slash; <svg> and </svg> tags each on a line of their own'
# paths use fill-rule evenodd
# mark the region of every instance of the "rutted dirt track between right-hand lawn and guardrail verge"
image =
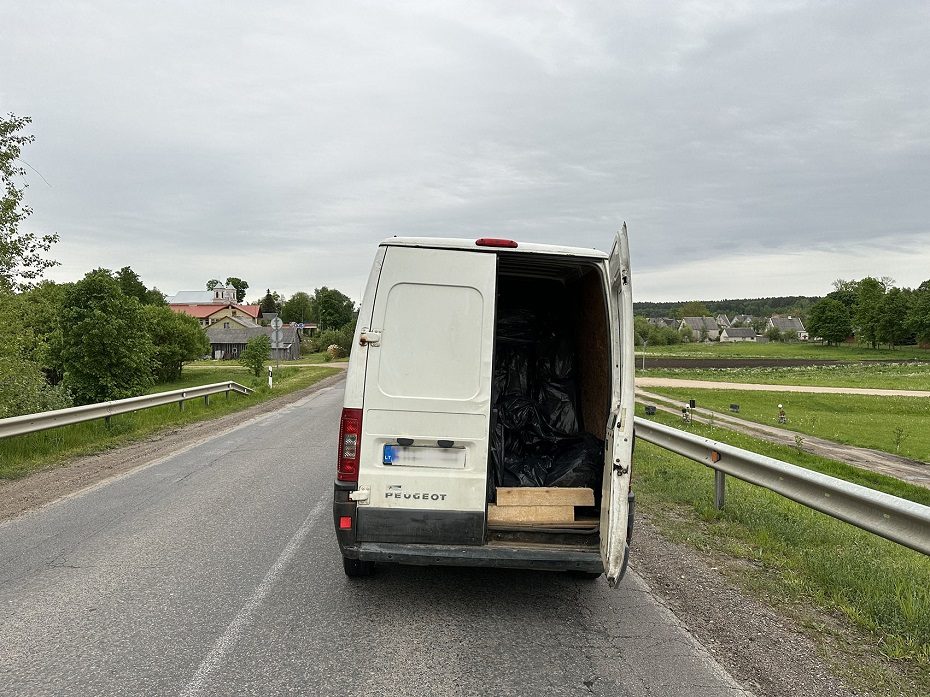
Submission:
<svg viewBox="0 0 930 697">
<path fill-rule="evenodd" d="M 720 385 L 721 383 L 714 383 Z M 723 383 L 727 386 L 732 383 Z M 657 408 L 671 414 L 681 415 L 681 402 L 658 395 L 645 390 L 637 389 L 637 399 L 639 401 L 648 401 L 655 404 Z M 802 448 L 807 452 L 845 462 L 860 467 L 862 469 L 879 472 L 881 474 L 895 477 L 911 484 L 925 486 L 930 488 L 930 464 L 911 460 L 899 455 L 882 452 L 881 450 L 872 450 L 871 448 L 860 448 L 855 445 L 844 445 L 836 443 L 825 438 L 818 438 L 806 433 L 799 434 L 797 431 L 789 431 L 776 426 L 767 426 L 755 421 L 746 421 L 729 414 L 723 414 L 710 409 L 694 409 L 692 418 L 703 424 L 713 421 L 716 425 L 724 426 L 739 433 L 760 438 L 761 440 L 775 443 L 777 445 L 795 446 L 795 436 L 800 435 L 804 440 Z"/>
</svg>

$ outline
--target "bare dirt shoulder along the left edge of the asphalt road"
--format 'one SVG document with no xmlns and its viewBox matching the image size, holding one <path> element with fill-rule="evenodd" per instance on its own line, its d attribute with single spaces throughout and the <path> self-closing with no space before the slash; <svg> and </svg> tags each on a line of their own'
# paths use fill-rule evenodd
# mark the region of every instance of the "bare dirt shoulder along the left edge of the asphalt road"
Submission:
<svg viewBox="0 0 930 697">
<path fill-rule="evenodd" d="M 245 421 L 273 412 L 319 390 L 339 385 L 343 380 L 344 373 L 332 375 L 310 387 L 218 419 L 206 419 L 181 428 L 167 429 L 113 450 L 65 460 L 21 479 L 0 480 L 0 520 L 13 518 L 110 477 L 150 464 L 206 436 L 241 426 Z"/>
</svg>

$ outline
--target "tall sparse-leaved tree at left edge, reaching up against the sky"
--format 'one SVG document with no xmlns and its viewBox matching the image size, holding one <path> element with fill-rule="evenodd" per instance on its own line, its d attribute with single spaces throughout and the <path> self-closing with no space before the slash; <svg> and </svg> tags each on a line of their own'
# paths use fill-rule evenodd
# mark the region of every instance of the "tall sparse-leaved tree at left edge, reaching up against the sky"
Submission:
<svg viewBox="0 0 930 697">
<path fill-rule="evenodd" d="M 0 180 L 3 194 L 0 198 L 0 291 L 22 290 L 41 278 L 46 269 L 58 265 L 46 257 L 58 235 L 42 235 L 23 232 L 19 226 L 30 215 L 32 209 L 23 203 L 26 185 L 18 185 L 17 179 L 26 175 L 19 159 L 22 148 L 33 142 L 35 136 L 23 135 L 20 131 L 32 119 L 28 116 L 10 114 L 0 118 Z"/>
</svg>

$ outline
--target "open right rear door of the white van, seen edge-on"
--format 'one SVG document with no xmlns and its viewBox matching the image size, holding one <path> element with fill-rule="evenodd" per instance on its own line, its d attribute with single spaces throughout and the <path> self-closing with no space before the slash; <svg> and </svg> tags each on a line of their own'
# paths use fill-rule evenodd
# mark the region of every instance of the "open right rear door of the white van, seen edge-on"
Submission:
<svg viewBox="0 0 930 697">
<path fill-rule="evenodd" d="M 611 586 L 625 571 L 628 494 L 633 460 L 633 293 L 626 223 L 617 233 L 608 261 L 613 334 L 613 390 L 604 451 L 601 498 L 601 558 Z"/>
</svg>

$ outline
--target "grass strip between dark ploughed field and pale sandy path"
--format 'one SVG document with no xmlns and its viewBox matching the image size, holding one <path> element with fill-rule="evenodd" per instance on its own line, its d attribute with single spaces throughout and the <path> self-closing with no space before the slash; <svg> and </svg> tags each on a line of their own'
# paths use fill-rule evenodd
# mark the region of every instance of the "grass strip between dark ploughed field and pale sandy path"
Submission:
<svg viewBox="0 0 930 697">
<path fill-rule="evenodd" d="M 930 363 L 842 363 L 764 368 L 646 368 L 637 377 L 747 382 L 759 385 L 930 390 Z"/>
</svg>

